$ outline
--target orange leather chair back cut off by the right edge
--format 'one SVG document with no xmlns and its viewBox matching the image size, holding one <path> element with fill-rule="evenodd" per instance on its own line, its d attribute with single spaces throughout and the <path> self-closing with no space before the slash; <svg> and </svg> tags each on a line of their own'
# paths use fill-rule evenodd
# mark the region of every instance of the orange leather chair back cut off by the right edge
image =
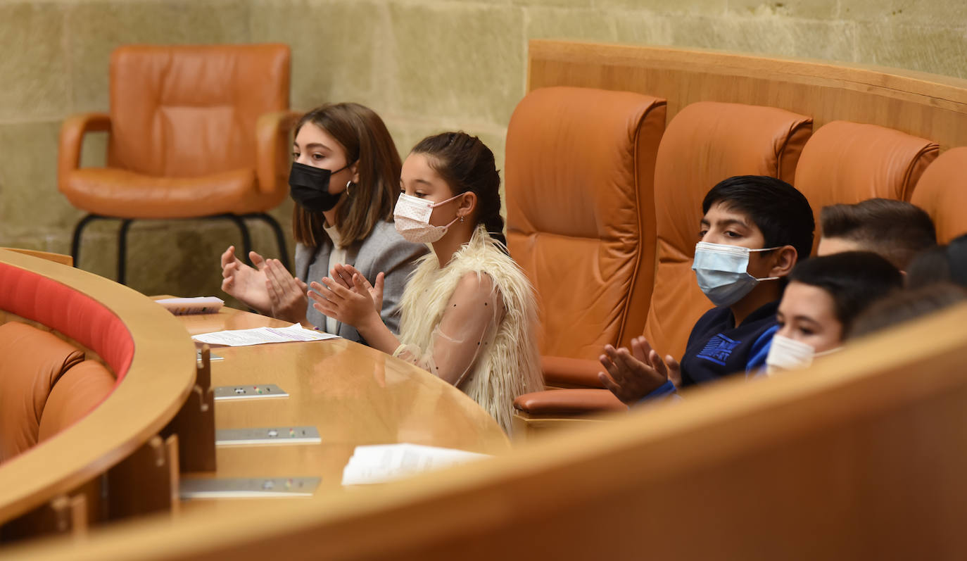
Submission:
<svg viewBox="0 0 967 561">
<path fill-rule="evenodd" d="M 937 227 L 937 243 L 967 233 L 967 147 L 952 148 L 923 172 L 910 202 Z"/>
</svg>

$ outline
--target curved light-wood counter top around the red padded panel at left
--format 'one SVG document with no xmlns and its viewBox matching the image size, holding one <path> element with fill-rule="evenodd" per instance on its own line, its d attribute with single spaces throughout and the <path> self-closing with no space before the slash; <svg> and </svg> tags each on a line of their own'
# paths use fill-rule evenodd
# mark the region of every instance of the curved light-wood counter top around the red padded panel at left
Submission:
<svg viewBox="0 0 967 561">
<path fill-rule="evenodd" d="M 191 340 L 178 320 L 131 288 L 13 251 L 0 251 L 0 263 L 93 298 L 124 322 L 134 343 L 131 367 L 97 409 L 0 465 L 0 481 L 5 482 L 0 486 L 0 522 L 6 522 L 97 477 L 158 434 L 185 402 L 194 384 L 195 361 Z"/>
</svg>

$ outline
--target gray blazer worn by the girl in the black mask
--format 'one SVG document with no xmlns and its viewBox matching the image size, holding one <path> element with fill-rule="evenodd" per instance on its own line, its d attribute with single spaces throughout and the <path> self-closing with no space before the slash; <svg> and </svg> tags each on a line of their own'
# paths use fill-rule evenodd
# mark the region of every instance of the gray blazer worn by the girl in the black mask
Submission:
<svg viewBox="0 0 967 561">
<path fill-rule="evenodd" d="M 323 277 L 329 277 L 329 253 L 333 250 L 333 243 L 326 241 L 315 249 L 303 244 L 296 244 L 296 277 L 307 284 L 316 282 Z M 393 333 L 399 332 L 399 301 L 403 297 L 403 286 L 410 273 L 416 269 L 416 260 L 429 251 L 425 244 L 407 242 L 396 231 L 393 222 L 378 221 L 372 232 L 362 242 L 356 242 L 346 248 L 346 264 L 359 269 L 369 282 L 376 280 L 380 272 L 386 274 L 383 285 L 383 310 L 380 316 Z M 312 301 L 308 301 L 306 318 L 309 323 L 319 329 L 326 328 L 326 316 L 312 308 Z M 366 343 L 359 332 L 351 325 L 337 323 L 336 335 Z"/>
</svg>

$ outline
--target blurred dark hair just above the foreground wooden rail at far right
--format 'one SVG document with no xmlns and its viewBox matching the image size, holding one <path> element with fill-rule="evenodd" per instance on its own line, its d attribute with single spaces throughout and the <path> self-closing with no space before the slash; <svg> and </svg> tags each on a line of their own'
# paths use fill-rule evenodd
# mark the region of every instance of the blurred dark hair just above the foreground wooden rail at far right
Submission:
<svg viewBox="0 0 967 561">
<path fill-rule="evenodd" d="M 965 301 L 967 291 L 946 282 L 913 290 L 899 290 L 861 313 L 846 339 L 869 335 Z"/>
</svg>

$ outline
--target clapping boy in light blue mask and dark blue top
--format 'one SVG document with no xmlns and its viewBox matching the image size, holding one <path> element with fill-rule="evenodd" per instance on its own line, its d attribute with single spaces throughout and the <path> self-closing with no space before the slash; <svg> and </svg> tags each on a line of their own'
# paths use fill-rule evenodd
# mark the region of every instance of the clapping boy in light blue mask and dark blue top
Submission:
<svg viewBox="0 0 967 561">
<path fill-rule="evenodd" d="M 605 388 L 632 404 L 735 372 L 759 371 L 777 331 L 784 278 L 812 248 L 815 222 L 803 193 L 773 177 L 730 177 L 702 201 L 692 270 L 716 306 L 695 323 L 681 363 L 644 338 L 607 345 Z"/>
</svg>

